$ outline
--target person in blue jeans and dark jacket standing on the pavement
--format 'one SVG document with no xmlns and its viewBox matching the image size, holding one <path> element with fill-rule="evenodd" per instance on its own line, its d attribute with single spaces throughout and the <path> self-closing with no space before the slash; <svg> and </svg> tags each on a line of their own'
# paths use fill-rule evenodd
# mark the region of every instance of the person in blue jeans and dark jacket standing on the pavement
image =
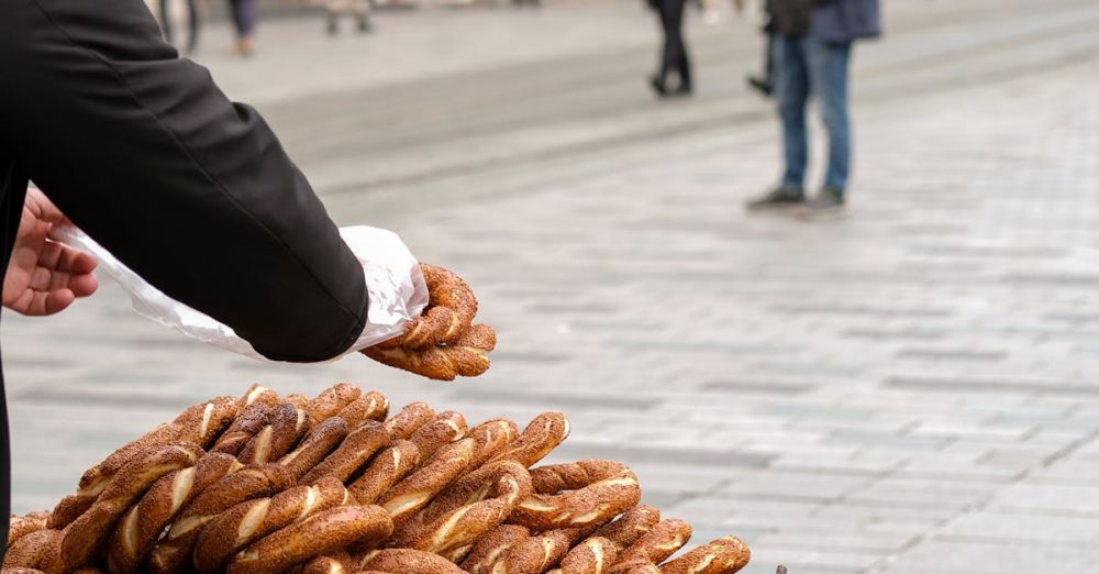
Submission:
<svg viewBox="0 0 1099 574">
<path fill-rule="evenodd" d="M 782 121 L 782 180 L 747 209 L 804 206 L 813 211 L 843 208 L 851 173 L 847 117 L 847 68 L 852 43 L 880 34 L 878 0 L 771 0 L 775 40 L 775 96 Z M 828 132 L 824 185 L 812 199 L 804 194 L 809 139 L 806 107 L 810 93 L 820 101 Z"/>
</svg>

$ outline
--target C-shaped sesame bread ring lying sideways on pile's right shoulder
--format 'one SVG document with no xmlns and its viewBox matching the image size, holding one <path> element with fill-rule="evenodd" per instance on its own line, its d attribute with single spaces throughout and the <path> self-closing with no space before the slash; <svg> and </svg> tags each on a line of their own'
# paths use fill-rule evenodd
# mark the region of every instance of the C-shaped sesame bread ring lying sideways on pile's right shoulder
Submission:
<svg viewBox="0 0 1099 574">
<path fill-rule="evenodd" d="M 531 481 L 537 494 L 519 504 L 511 521 L 536 530 L 603 523 L 641 499 L 637 476 L 614 461 L 543 466 Z"/>
</svg>

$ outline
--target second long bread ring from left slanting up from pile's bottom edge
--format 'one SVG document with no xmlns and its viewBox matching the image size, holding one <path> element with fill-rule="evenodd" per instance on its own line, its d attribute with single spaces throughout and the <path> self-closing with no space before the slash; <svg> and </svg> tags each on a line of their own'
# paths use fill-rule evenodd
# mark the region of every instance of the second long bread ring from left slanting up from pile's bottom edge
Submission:
<svg viewBox="0 0 1099 574">
<path fill-rule="evenodd" d="M 110 571 L 114 574 L 140 571 L 156 539 L 176 515 L 199 493 L 240 468 L 241 463 L 231 454 L 211 452 L 195 466 L 160 477 L 119 520 L 107 548 Z"/>
</svg>

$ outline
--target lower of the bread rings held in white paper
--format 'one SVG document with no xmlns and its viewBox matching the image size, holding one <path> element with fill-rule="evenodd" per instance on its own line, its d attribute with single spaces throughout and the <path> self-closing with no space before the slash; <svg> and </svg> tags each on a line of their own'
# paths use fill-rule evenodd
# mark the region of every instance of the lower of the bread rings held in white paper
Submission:
<svg viewBox="0 0 1099 574">
<path fill-rule="evenodd" d="M 404 346 L 369 346 L 360 352 L 395 368 L 435 380 L 475 377 L 490 365 L 488 354 L 496 349 L 496 331 L 487 324 L 475 324 L 452 344 L 408 349 Z"/>
</svg>

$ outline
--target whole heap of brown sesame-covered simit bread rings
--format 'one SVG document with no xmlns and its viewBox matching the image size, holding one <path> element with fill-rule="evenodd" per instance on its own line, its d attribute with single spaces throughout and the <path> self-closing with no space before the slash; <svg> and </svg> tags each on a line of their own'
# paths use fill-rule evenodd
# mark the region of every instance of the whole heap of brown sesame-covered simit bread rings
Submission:
<svg viewBox="0 0 1099 574">
<path fill-rule="evenodd" d="M 422 402 L 388 415 L 386 397 L 343 383 L 195 405 L 52 512 L 13 517 L 2 574 L 723 574 L 748 561 L 728 537 L 665 562 L 690 526 L 639 506 L 620 463 L 531 468 L 568 435 L 558 412 L 522 433 Z"/>
</svg>

